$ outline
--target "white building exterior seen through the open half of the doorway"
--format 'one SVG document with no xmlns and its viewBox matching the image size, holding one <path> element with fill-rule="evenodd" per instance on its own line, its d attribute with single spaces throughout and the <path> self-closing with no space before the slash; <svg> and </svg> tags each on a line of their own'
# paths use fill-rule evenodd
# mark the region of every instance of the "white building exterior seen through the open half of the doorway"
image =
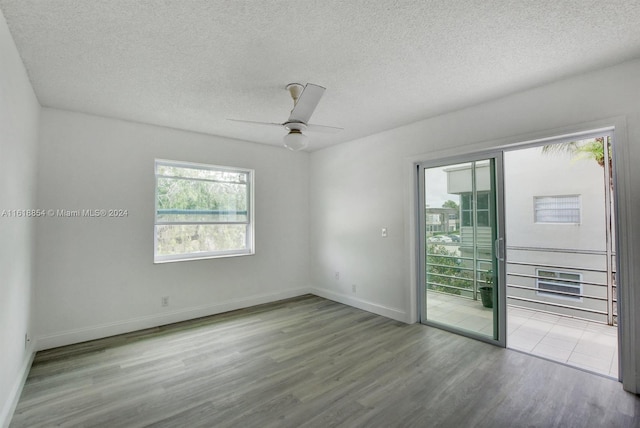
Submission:
<svg viewBox="0 0 640 428">
<path fill-rule="evenodd" d="M 592 158 L 543 154 L 539 147 L 506 153 L 507 284 L 513 285 L 507 293 L 510 304 L 607 322 L 608 310 L 614 311 L 614 307 L 608 309 L 607 302 L 607 186 L 604 168 Z M 572 202 L 576 203 L 577 218 L 571 218 L 576 210 L 566 206 Z M 540 208 L 545 203 L 565 207 L 546 218 L 538 210 L 536 216 L 536 204 Z M 610 251 L 613 248 L 612 240 Z M 615 260 L 609 260 L 610 269 L 615 270 Z M 548 284 L 518 276 L 550 273 L 556 279 L 579 281 L 558 288 L 569 291 L 575 286 L 583 297 L 541 292 L 541 288 L 553 288 L 557 281 Z"/>
</svg>

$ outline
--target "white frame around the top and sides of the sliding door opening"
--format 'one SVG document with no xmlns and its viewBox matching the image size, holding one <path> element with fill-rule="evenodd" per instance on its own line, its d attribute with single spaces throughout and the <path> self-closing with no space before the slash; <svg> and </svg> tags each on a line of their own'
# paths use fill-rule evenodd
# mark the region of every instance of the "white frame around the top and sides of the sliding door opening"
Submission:
<svg viewBox="0 0 640 428">
<path fill-rule="evenodd" d="M 552 125 L 553 126 L 553 125 Z M 407 321 L 414 323 L 420 319 L 420 282 L 419 282 L 419 235 L 418 230 L 418 186 L 417 165 L 425 161 L 436 163 L 445 162 L 448 159 L 461 158 L 473 153 L 491 153 L 493 151 L 506 151 L 514 148 L 526 148 L 539 145 L 540 142 L 558 140 L 563 137 L 578 138 L 586 135 L 612 131 L 613 147 L 613 180 L 614 198 L 616 201 L 615 227 L 616 235 L 616 262 L 617 262 L 617 286 L 618 286 L 618 340 L 620 372 L 619 380 L 624 389 L 631 393 L 640 393 L 640 316 L 637 315 L 637 307 L 640 307 L 640 291 L 636 290 L 635 267 L 637 258 L 640 257 L 636 250 L 634 238 L 639 235 L 634 227 L 637 217 L 634 211 L 634 201 L 631 199 L 632 174 L 629 150 L 630 136 L 626 116 L 602 117 L 580 123 L 556 125 L 546 129 L 533 130 L 521 134 L 512 134 L 503 137 L 488 137 L 478 139 L 475 142 L 453 141 L 451 146 L 436 146 L 425 144 L 423 151 L 405 158 L 405 184 L 406 192 L 406 216 L 409 222 L 405 228 L 407 237 L 407 254 L 409 281 L 408 287 L 408 314 Z M 484 137 L 487 138 L 487 137 Z"/>
</svg>

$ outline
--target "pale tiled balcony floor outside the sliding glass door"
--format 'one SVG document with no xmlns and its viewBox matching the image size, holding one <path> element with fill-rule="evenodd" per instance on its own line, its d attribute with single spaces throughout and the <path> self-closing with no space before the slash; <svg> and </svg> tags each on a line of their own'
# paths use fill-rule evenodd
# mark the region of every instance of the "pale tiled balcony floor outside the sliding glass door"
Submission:
<svg viewBox="0 0 640 428">
<path fill-rule="evenodd" d="M 491 334 L 492 310 L 480 301 L 429 293 L 428 318 Z M 507 307 L 507 347 L 618 378 L 618 329 L 561 315 Z"/>
</svg>

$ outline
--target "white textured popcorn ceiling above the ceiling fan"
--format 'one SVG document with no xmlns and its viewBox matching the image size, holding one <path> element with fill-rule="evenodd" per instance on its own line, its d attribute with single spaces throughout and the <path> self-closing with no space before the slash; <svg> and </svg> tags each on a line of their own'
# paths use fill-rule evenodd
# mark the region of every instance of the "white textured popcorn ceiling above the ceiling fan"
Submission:
<svg viewBox="0 0 640 428">
<path fill-rule="evenodd" d="M 0 0 L 43 106 L 310 150 L 640 57 L 637 0 Z M 179 144 L 179 142 L 177 142 Z"/>
</svg>

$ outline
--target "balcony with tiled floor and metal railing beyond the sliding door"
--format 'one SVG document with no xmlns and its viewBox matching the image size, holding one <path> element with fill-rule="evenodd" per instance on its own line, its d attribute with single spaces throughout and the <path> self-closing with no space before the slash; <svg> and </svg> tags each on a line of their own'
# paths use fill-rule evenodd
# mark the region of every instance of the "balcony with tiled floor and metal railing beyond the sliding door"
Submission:
<svg viewBox="0 0 640 428">
<path fill-rule="evenodd" d="M 428 248 L 428 317 L 492 336 L 479 292 L 493 282 L 491 247 L 467 248 L 462 232 Z M 510 247 L 506 269 L 509 348 L 618 378 L 615 253 Z"/>
</svg>

